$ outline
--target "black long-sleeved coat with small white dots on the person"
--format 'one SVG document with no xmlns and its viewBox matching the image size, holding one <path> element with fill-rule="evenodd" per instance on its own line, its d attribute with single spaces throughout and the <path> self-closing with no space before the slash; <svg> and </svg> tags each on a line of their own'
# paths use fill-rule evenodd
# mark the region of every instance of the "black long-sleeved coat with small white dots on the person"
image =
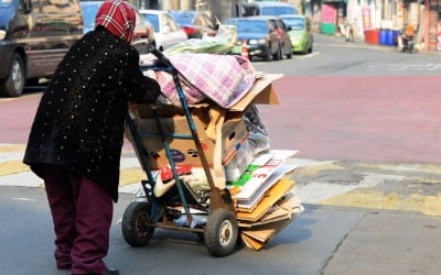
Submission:
<svg viewBox="0 0 441 275">
<path fill-rule="evenodd" d="M 41 99 L 23 162 L 87 176 L 118 200 L 128 102 L 153 102 L 160 88 L 139 69 L 139 54 L 99 26 L 74 44 Z"/>
</svg>

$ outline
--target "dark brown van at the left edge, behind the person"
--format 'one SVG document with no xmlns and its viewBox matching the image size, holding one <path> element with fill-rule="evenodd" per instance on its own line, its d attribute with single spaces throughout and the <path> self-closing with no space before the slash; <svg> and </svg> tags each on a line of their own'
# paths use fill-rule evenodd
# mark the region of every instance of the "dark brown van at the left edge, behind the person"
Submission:
<svg viewBox="0 0 441 275">
<path fill-rule="evenodd" d="M 82 35 L 79 0 L 0 0 L 0 96 L 51 77 Z"/>
</svg>

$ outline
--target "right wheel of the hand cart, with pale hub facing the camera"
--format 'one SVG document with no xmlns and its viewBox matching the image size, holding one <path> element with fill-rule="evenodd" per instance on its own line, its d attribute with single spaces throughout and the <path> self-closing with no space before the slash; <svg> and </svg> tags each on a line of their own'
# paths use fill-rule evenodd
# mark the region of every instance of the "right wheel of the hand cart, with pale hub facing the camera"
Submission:
<svg viewBox="0 0 441 275">
<path fill-rule="evenodd" d="M 213 256 L 229 255 L 236 246 L 237 232 L 234 215 L 223 208 L 215 209 L 205 226 L 205 246 Z"/>
</svg>

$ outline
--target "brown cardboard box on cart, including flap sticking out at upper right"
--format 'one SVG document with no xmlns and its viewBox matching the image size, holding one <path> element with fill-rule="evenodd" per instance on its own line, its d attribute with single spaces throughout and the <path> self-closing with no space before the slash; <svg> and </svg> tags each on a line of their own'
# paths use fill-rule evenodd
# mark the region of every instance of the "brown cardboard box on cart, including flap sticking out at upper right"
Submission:
<svg viewBox="0 0 441 275">
<path fill-rule="evenodd" d="M 261 78 L 257 79 L 251 89 L 241 98 L 236 105 L 227 110 L 227 119 L 222 128 L 223 132 L 223 164 L 227 164 L 235 155 L 237 148 L 248 136 L 246 125 L 241 120 L 243 113 L 246 109 L 255 105 L 278 105 L 279 100 L 272 87 L 272 81 L 282 77 L 281 74 L 263 74 Z M 192 118 L 194 119 L 196 132 L 198 134 L 201 144 L 205 152 L 208 164 L 213 165 L 214 158 L 214 141 L 211 140 L 204 132 L 204 129 L 209 123 L 209 114 L 204 109 L 209 109 L 208 103 L 198 103 L 191 106 L 194 108 Z M 176 111 L 176 109 L 179 111 Z M 150 105 L 138 105 L 139 117 L 137 123 L 139 130 L 143 132 L 142 143 L 148 150 L 150 156 L 151 168 L 162 168 L 169 165 L 169 161 L 163 148 L 162 141 L 158 135 L 158 129 L 150 109 Z M 164 122 L 164 131 L 174 134 L 190 134 L 189 124 L 183 111 L 174 106 L 165 106 L 158 110 L 160 112 L 161 121 Z M 178 112 L 180 114 L 173 113 Z M 131 141 L 131 134 L 126 133 L 126 136 Z M 201 160 L 197 154 L 196 146 L 193 140 L 178 140 L 173 138 L 166 139 L 170 142 L 171 154 L 175 160 L 176 165 L 183 166 L 201 166 Z M 137 152 L 137 155 L 140 152 Z M 139 156 L 138 156 L 139 157 Z"/>
</svg>

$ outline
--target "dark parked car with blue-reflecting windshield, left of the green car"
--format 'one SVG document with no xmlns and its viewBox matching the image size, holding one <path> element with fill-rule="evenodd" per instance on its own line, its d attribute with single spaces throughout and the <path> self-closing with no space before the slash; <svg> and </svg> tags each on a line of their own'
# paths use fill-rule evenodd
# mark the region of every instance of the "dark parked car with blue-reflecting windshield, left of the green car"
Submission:
<svg viewBox="0 0 441 275">
<path fill-rule="evenodd" d="M 237 44 L 230 54 L 240 54 L 243 46 L 246 46 L 250 59 L 260 57 L 269 62 L 281 58 L 282 41 L 268 18 L 233 18 L 225 21 L 224 24 L 236 26 Z"/>
</svg>

